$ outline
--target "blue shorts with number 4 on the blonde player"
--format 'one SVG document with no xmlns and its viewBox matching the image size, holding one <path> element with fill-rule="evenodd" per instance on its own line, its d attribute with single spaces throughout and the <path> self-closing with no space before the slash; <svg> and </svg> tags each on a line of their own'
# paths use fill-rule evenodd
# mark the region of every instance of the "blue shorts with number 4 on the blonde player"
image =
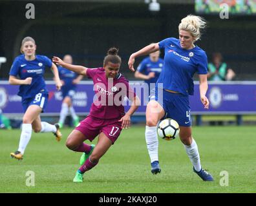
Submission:
<svg viewBox="0 0 256 206">
<path fill-rule="evenodd" d="M 159 89 L 162 94 L 158 95 L 158 89 L 155 95 L 151 93 L 151 100 L 156 100 L 164 108 L 164 118 L 173 118 L 180 126 L 190 127 L 192 125 L 189 106 L 189 96 L 180 93 L 171 93 Z"/>
</svg>

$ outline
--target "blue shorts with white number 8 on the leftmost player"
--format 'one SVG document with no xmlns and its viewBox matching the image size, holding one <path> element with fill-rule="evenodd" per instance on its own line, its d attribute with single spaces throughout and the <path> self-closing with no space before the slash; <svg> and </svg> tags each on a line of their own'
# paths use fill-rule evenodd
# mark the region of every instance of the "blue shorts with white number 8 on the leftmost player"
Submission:
<svg viewBox="0 0 256 206">
<path fill-rule="evenodd" d="M 25 98 L 22 100 L 22 106 L 24 111 L 27 111 L 30 105 L 38 105 L 42 108 L 42 112 L 45 110 L 48 102 L 48 93 L 37 93 L 33 98 Z"/>
</svg>

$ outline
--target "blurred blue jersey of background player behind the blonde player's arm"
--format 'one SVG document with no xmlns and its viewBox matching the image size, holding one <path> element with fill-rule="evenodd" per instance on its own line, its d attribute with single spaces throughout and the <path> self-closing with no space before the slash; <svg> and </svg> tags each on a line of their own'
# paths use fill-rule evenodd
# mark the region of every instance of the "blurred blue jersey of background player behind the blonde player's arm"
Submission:
<svg viewBox="0 0 256 206">
<path fill-rule="evenodd" d="M 147 84 L 150 83 L 156 83 L 158 80 L 158 77 L 160 76 L 160 73 L 162 71 L 162 68 L 164 66 L 164 60 L 159 58 L 158 61 L 153 62 L 151 61 L 150 57 L 146 57 L 138 66 L 137 71 L 140 73 L 144 73 L 145 75 L 148 75 L 150 72 L 155 72 L 155 77 L 151 79 L 145 80 Z"/>
</svg>

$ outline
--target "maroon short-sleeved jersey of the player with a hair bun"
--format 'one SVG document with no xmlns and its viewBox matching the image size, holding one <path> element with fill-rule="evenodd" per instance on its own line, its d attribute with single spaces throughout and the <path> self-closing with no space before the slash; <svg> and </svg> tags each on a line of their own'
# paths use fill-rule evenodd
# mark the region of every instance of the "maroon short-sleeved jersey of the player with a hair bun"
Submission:
<svg viewBox="0 0 256 206">
<path fill-rule="evenodd" d="M 95 91 L 90 115 L 101 119 L 123 117 L 125 97 L 132 99 L 136 96 L 128 80 L 121 73 L 115 78 L 107 78 L 102 67 L 88 68 L 87 77 L 93 80 Z"/>
</svg>

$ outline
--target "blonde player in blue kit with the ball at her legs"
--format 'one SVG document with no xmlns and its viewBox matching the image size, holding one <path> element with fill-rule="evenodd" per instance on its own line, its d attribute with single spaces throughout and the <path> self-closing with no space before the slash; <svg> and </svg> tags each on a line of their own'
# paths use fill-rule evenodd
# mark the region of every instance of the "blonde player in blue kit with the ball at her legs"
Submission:
<svg viewBox="0 0 256 206">
<path fill-rule="evenodd" d="M 194 93 L 193 75 L 199 75 L 200 100 L 204 108 L 209 108 L 206 97 L 207 56 L 206 52 L 194 44 L 200 38 L 200 30 L 206 26 L 205 21 L 195 15 L 187 15 L 178 26 L 179 39 L 167 38 L 156 44 L 150 44 L 135 52 L 129 59 L 129 68 L 134 71 L 134 59 L 164 49 L 164 69 L 156 83 L 154 99 L 151 98 L 146 109 L 145 140 L 151 158 L 151 172 L 160 173 L 158 162 L 158 138 L 156 125 L 162 118 L 173 118 L 180 125 L 180 140 L 193 164 L 193 171 L 204 181 L 213 177 L 202 169 L 197 143 L 192 137 L 189 95 Z M 162 99 L 158 99 L 158 84 Z"/>
</svg>

